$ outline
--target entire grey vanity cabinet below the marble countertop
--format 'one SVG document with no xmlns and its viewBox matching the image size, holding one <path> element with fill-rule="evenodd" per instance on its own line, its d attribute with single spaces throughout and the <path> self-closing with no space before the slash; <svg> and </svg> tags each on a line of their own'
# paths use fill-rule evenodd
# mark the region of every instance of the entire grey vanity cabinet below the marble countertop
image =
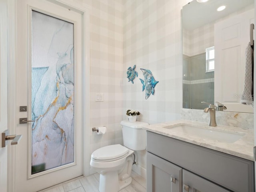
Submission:
<svg viewBox="0 0 256 192">
<path fill-rule="evenodd" d="M 147 192 L 166 191 L 254 192 L 254 162 L 147 131 Z"/>
</svg>

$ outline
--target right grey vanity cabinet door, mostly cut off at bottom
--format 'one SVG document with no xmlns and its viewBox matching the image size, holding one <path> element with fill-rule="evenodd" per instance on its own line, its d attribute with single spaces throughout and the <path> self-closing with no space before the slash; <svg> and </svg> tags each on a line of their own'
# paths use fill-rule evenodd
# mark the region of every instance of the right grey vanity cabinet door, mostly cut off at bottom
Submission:
<svg viewBox="0 0 256 192">
<path fill-rule="evenodd" d="M 231 192 L 184 169 L 182 188 L 182 192 Z"/>
</svg>

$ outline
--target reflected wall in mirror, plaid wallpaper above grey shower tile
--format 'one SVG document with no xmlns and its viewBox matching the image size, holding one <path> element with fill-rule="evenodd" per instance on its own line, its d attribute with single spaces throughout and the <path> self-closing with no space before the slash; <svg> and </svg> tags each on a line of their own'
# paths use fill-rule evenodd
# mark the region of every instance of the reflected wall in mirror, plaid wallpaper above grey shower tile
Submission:
<svg viewBox="0 0 256 192">
<path fill-rule="evenodd" d="M 203 109 L 214 102 L 214 72 L 206 71 L 205 48 L 214 46 L 214 23 L 183 29 L 183 107 Z M 185 81 L 184 81 L 185 80 Z"/>
</svg>

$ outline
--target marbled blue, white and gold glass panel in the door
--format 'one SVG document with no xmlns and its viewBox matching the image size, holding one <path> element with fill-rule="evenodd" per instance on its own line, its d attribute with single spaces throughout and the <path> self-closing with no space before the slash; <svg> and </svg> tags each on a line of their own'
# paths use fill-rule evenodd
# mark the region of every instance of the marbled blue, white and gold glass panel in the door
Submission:
<svg viewBox="0 0 256 192">
<path fill-rule="evenodd" d="M 74 162 L 74 24 L 32 11 L 32 174 Z"/>
</svg>

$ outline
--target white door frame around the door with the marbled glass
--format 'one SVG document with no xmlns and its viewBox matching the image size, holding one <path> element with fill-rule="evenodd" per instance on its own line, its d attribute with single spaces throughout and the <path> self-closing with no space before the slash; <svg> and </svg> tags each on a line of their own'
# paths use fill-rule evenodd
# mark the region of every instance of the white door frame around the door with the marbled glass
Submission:
<svg viewBox="0 0 256 192">
<path fill-rule="evenodd" d="M 16 2 L 18 0 L 8 0 L 8 126 L 10 134 L 16 132 L 16 125 L 19 123 L 16 117 Z M 83 90 L 82 97 L 84 98 L 83 107 L 83 175 L 90 174 L 90 7 L 84 6 L 75 2 L 70 4 L 70 0 L 46 0 L 58 6 L 68 8 L 82 16 L 82 71 L 83 71 Z M 15 148 L 9 148 L 8 152 L 8 191 L 15 191 Z M 26 165 L 27 166 L 27 165 Z"/>
</svg>

